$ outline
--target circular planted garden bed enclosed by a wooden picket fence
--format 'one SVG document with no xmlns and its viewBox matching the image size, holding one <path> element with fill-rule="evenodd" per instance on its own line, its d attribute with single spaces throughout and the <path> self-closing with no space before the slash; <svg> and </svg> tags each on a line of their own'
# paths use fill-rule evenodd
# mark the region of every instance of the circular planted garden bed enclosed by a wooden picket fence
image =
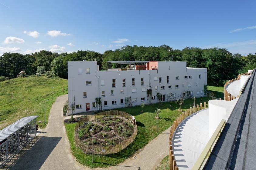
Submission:
<svg viewBox="0 0 256 170">
<path fill-rule="evenodd" d="M 86 154 L 92 152 L 92 144 L 96 154 L 120 152 L 133 142 L 137 135 L 137 125 L 133 125 L 128 116 L 104 115 L 97 119 L 95 116 L 92 121 L 80 122 L 75 129 L 77 145 Z"/>
</svg>

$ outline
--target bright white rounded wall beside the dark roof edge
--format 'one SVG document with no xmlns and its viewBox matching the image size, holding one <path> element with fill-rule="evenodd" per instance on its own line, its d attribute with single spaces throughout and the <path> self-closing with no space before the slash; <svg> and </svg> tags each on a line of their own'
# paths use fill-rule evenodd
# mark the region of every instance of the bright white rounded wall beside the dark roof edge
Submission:
<svg viewBox="0 0 256 170">
<path fill-rule="evenodd" d="M 213 132 L 216 130 L 222 119 L 227 122 L 237 100 L 238 98 L 231 101 L 209 100 L 209 139 L 212 137 Z"/>
</svg>

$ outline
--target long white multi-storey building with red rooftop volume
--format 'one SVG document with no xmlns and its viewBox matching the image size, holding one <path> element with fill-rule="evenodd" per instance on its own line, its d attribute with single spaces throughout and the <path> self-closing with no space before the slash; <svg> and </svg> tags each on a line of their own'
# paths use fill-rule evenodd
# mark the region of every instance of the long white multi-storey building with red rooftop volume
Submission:
<svg viewBox="0 0 256 170">
<path fill-rule="evenodd" d="M 68 62 L 69 106 L 75 98 L 75 113 L 80 113 L 96 111 L 95 98 L 101 98 L 102 109 L 113 109 L 125 107 L 126 97 L 131 97 L 133 106 L 156 103 L 157 92 L 162 94 L 162 101 L 166 101 L 168 93 L 179 98 L 188 90 L 192 96 L 204 95 L 206 68 L 188 68 L 186 62 L 145 62 L 137 70 L 125 71 L 120 68 L 99 71 L 96 61 Z M 152 97 L 147 101 L 146 91 L 150 88 Z"/>
</svg>

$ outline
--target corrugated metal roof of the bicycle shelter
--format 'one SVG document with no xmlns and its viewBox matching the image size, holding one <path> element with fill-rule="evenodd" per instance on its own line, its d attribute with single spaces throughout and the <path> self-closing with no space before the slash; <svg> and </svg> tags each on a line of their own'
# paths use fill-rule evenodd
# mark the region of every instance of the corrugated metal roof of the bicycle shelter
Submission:
<svg viewBox="0 0 256 170">
<path fill-rule="evenodd" d="M 28 116 L 25 118 L 21 118 L 18 121 L 14 122 L 12 125 L 7 126 L 6 128 L 0 131 L 0 141 L 8 138 L 13 133 L 18 131 L 23 126 L 27 125 L 32 120 L 36 119 L 38 116 Z"/>
</svg>

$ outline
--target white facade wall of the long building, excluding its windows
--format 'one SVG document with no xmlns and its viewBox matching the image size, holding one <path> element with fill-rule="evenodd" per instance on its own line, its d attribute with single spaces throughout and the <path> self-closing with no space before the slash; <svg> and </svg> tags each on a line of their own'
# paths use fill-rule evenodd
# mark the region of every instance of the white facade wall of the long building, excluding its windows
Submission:
<svg viewBox="0 0 256 170">
<path fill-rule="evenodd" d="M 83 74 L 78 74 L 78 68 L 82 68 Z M 86 74 L 86 68 L 90 68 L 90 74 Z M 184 78 L 185 75 L 187 79 Z M 189 75 L 192 75 L 191 79 Z M 167 83 L 167 76 L 169 76 L 169 83 Z M 175 79 L 176 76 L 179 76 L 179 80 Z M 154 80 L 154 77 L 158 80 Z M 159 77 L 162 77 L 162 84 L 159 84 Z M 122 86 L 123 78 L 126 79 L 125 87 Z M 132 78 L 135 78 L 135 86 L 132 86 Z M 141 85 L 141 78 L 144 78 L 144 85 Z M 197 97 L 200 97 L 204 84 L 207 84 L 207 69 L 186 68 L 186 62 L 158 62 L 158 70 L 97 72 L 97 62 L 68 62 L 69 105 L 73 103 L 73 96 L 75 96 L 75 104 L 82 105 L 82 108 L 75 109 L 75 113 L 85 112 L 86 103 L 90 103 L 90 111 L 96 111 L 96 108 L 92 108 L 92 102 L 95 102 L 96 97 L 101 97 L 102 91 L 105 92 L 105 97 L 101 97 L 102 109 L 125 107 L 125 97 L 128 96 L 137 98 L 137 102 L 132 102 L 132 105 L 140 105 L 142 102 L 148 104 L 146 91 L 142 92 L 142 88 L 150 88 L 149 78 L 152 96 L 155 96 L 155 100 L 151 103 L 157 102 L 156 92 L 165 95 L 172 92 L 179 97 L 184 90 L 191 90 L 192 95 L 199 91 L 200 94 Z M 112 87 L 112 79 L 115 79 L 116 87 Z M 101 80 L 104 80 L 104 85 L 101 85 Z M 86 85 L 86 81 L 92 81 L 92 85 Z M 191 87 L 188 87 L 189 84 Z M 169 85 L 172 85 L 172 89 L 168 89 Z M 179 85 L 179 88 L 175 88 L 175 85 Z M 155 91 L 155 86 L 158 86 L 158 91 Z M 161 90 L 161 86 L 165 86 L 165 89 Z M 136 92 L 132 92 L 135 88 Z M 114 90 L 114 95 L 110 95 L 111 90 Z M 120 90 L 124 90 L 124 93 L 121 94 Z M 83 98 L 83 92 L 87 92 L 87 98 Z M 142 97 L 145 97 L 145 101 L 141 101 Z M 120 104 L 120 99 L 124 99 L 123 105 Z M 112 105 L 112 101 L 115 100 L 117 104 Z M 104 101 L 107 101 L 107 106 L 104 106 Z"/>
</svg>

